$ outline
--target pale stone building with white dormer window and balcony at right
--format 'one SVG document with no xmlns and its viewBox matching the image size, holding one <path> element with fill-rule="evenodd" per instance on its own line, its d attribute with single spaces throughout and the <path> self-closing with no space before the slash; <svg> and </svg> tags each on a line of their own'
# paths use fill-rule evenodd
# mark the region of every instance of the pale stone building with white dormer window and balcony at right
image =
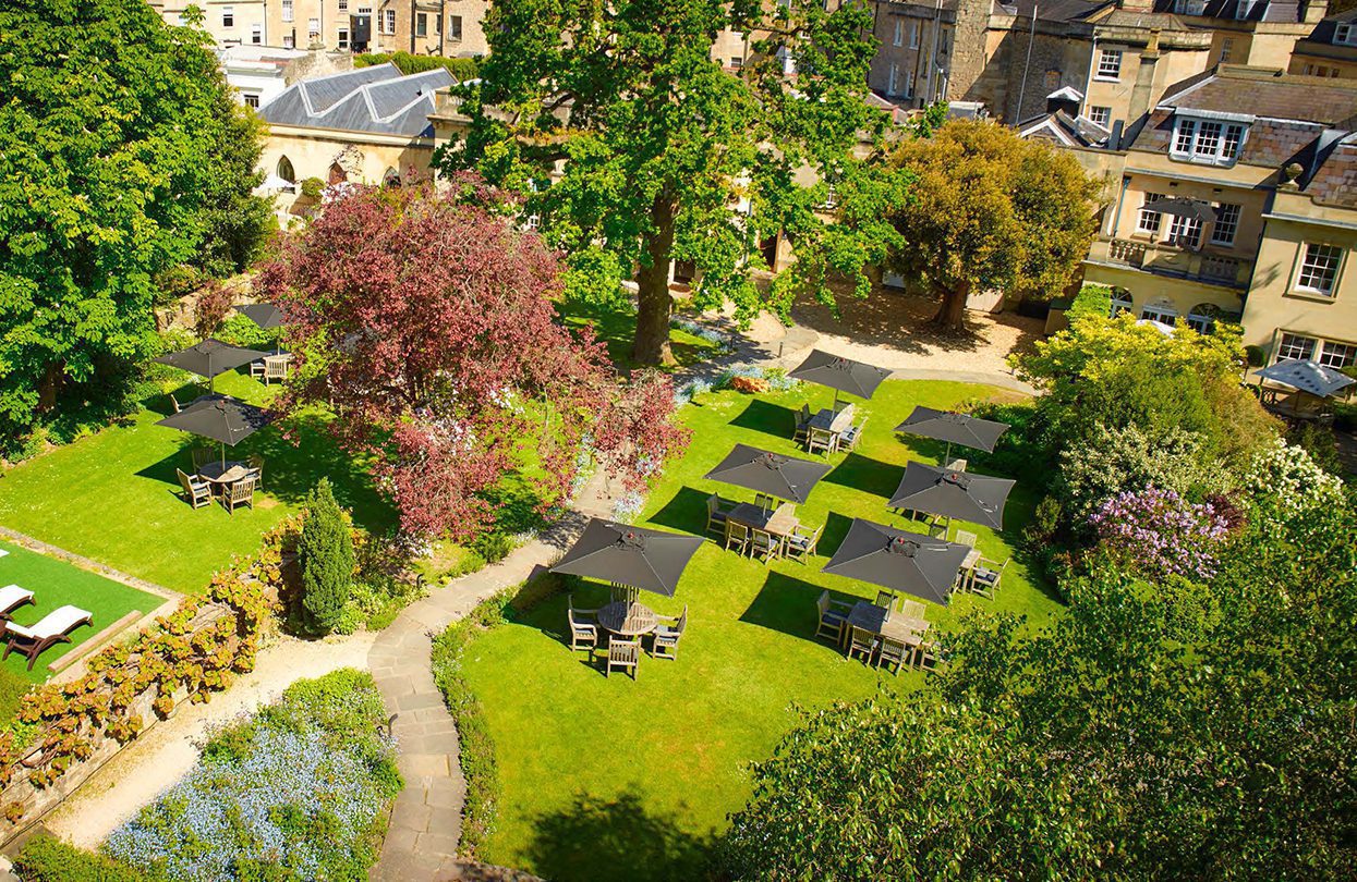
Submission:
<svg viewBox="0 0 1357 882">
<path fill-rule="evenodd" d="M 1102 157 L 1120 180 L 1084 279 L 1114 310 L 1239 321 L 1269 363 L 1357 360 L 1357 81 L 1220 65 Z"/>
</svg>

